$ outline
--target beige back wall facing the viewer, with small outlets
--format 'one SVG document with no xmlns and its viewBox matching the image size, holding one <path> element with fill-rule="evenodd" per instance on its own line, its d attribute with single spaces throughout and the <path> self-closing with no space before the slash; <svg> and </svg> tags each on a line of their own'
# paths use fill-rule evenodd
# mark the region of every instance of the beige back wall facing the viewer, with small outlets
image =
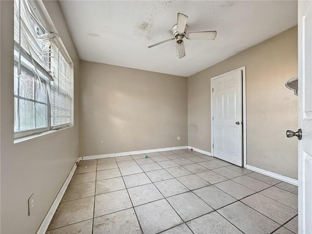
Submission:
<svg viewBox="0 0 312 234">
<path fill-rule="evenodd" d="M 87 61 L 80 72 L 80 156 L 187 145 L 187 78 Z"/>
</svg>

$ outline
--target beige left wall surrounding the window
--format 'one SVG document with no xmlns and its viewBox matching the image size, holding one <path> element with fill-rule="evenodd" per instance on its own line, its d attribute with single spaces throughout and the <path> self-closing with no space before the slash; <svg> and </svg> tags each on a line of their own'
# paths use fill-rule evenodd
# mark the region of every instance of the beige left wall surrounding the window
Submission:
<svg viewBox="0 0 312 234">
<path fill-rule="evenodd" d="M 79 60 L 58 1 L 44 1 L 75 64 L 75 106 L 72 128 L 13 144 L 13 12 L 14 1 L 0 1 L 1 48 L 1 231 L 33 234 L 49 210 L 78 158 Z M 28 216 L 27 199 L 35 208 Z"/>
</svg>

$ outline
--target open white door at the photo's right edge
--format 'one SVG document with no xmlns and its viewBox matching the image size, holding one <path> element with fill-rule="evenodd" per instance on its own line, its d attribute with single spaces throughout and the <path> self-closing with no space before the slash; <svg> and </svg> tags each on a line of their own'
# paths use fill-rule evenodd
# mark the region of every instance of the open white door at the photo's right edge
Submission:
<svg viewBox="0 0 312 234">
<path fill-rule="evenodd" d="M 312 1 L 298 1 L 298 222 L 312 234 Z"/>
</svg>

